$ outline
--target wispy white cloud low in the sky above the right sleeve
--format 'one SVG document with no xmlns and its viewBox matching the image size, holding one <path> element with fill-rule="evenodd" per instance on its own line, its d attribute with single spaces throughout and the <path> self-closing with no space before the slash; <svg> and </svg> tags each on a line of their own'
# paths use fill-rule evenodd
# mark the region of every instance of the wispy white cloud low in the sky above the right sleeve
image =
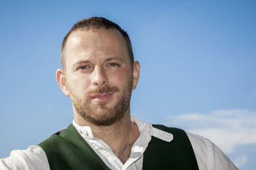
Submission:
<svg viewBox="0 0 256 170">
<path fill-rule="evenodd" d="M 210 139 L 225 153 L 234 152 L 239 145 L 256 144 L 256 112 L 249 110 L 188 113 L 168 117 L 167 120 L 166 124 L 170 126 Z"/>
</svg>

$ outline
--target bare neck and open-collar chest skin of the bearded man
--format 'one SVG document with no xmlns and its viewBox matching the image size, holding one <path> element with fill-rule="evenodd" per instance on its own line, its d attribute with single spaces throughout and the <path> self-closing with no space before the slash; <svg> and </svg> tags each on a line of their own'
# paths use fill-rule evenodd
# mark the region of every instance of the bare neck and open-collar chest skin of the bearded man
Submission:
<svg viewBox="0 0 256 170">
<path fill-rule="evenodd" d="M 124 163 L 130 157 L 131 147 L 140 136 L 140 131 L 135 123 L 131 129 L 131 113 L 129 109 L 124 117 L 109 126 L 99 126 L 87 122 L 78 114 L 74 114 L 75 121 L 81 126 L 90 126 L 95 138 L 102 139 L 115 153 L 115 155 Z M 131 136 L 130 136 L 131 133 Z M 129 138 L 130 136 L 130 138 Z M 128 141 L 128 143 L 127 143 Z M 127 145 L 127 146 L 126 146 Z M 125 148 L 126 146 L 126 148 Z"/>
</svg>

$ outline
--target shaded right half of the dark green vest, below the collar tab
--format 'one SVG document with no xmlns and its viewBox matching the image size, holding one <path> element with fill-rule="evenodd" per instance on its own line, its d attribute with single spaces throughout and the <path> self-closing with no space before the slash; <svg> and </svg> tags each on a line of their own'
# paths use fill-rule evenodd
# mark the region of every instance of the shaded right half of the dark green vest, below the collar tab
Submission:
<svg viewBox="0 0 256 170">
<path fill-rule="evenodd" d="M 152 136 L 143 155 L 143 169 L 198 169 L 195 153 L 185 131 L 164 125 L 154 128 L 173 135 L 171 141 Z M 160 133 L 160 137 L 164 134 Z"/>
</svg>

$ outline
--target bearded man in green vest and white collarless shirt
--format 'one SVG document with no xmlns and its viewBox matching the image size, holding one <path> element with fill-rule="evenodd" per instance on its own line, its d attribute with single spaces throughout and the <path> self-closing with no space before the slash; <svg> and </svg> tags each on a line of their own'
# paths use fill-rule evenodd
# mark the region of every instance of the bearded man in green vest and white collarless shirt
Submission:
<svg viewBox="0 0 256 170">
<path fill-rule="evenodd" d="M 131 116 L 140 63 L 115 23 L 77 22 L 63 39 L 61 62 L 56 79 L 72 101 L 72 124 L 13 151 L 0 169 L 237 169 L 211 141 Z"/>
</svg>

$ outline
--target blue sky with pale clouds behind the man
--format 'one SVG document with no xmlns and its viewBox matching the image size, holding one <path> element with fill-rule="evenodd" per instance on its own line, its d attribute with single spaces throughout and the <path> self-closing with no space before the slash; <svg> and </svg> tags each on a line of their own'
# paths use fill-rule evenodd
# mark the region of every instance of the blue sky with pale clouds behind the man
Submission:
<svg viewBox="0 0 256 170">
<path fill-rule="evenodd" d="M 256 167 L 255 1 L 1 1 L 0 157 L 72 122 L 55 80 L 61 41 L 85 17 L 128 32 L 141 63 L 131 111 L 211 139 Z"/>
</svg>

